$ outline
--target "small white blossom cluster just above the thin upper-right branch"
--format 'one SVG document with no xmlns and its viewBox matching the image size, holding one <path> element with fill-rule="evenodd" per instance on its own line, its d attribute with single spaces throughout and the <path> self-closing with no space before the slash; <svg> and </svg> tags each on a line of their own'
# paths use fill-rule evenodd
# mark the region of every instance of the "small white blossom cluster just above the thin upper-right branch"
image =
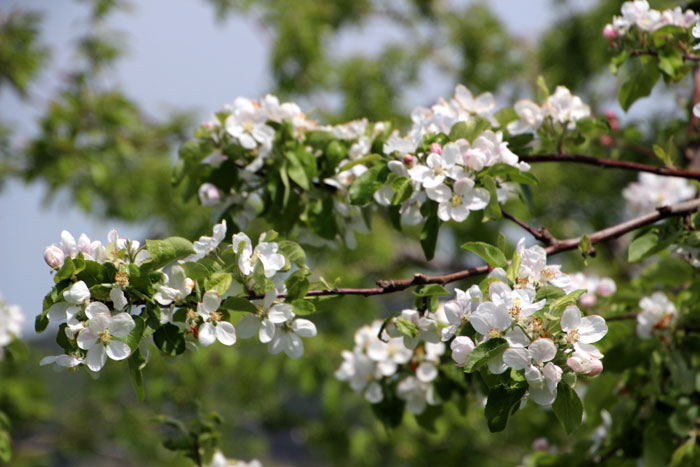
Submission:
<svg viewBox="0 0 700 467">
<path fill-rule="evenodd" d="M 557 86 L 554 94 L 541 106 L 530 99 L 520 99 L 513 109 L 518 114 L 518 120 L 508 123 L 507 126 L 513 135 L 537 133 L 547 122 L 573 130 L 577 121 L 591 116 L 591 108 L 564 86 Z"/>
</svg>

